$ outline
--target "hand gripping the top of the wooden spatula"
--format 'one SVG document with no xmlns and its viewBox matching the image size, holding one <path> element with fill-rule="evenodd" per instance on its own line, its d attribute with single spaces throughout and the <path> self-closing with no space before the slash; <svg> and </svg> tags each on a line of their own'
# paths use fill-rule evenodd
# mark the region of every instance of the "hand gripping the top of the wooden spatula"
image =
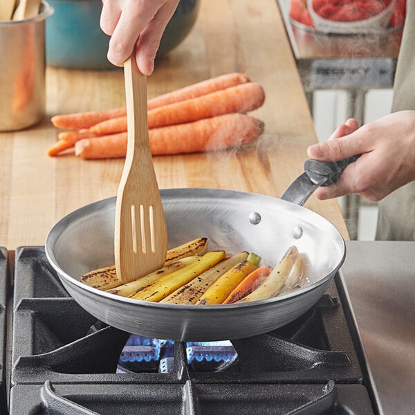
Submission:
<svg viewBox="0 0 415 415">
<path fill-rule="evenodd" d="M 100 26 L 111 36 L 109 62 L 123 66 L 136 46 L 138 68 L 143 74 L 151 75 L 160 39 L 178 1 L 102 0 Z"/>
</svg>

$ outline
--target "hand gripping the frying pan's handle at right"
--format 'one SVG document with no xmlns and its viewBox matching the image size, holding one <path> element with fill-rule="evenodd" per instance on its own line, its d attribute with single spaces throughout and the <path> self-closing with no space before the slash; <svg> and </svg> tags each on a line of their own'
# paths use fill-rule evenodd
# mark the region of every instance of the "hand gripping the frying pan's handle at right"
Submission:
<svg viewBox="0 0 415 415">
<path fill-rule="evenodd" d="M 347 120 L 329 140 L 307 150 L 308 157 L 322 161 L 360 153 L 334 185 L 315 191 L 317 199 L 356 193 L 380 201 L 415 180 L 415 111 L 391 113 L 360 128 L 356 120 Z"/>
</svg>

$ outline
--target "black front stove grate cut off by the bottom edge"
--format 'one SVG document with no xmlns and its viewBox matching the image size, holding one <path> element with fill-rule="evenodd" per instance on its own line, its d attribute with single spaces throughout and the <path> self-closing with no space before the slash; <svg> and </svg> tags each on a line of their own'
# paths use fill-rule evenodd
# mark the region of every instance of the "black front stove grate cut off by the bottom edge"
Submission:
<svg viewBox="0 0 415 415">
<path fill-rule="evenodd" d="M 370 415 L 361 385 L 17 385 L 10 414 Z"/>
</svg>

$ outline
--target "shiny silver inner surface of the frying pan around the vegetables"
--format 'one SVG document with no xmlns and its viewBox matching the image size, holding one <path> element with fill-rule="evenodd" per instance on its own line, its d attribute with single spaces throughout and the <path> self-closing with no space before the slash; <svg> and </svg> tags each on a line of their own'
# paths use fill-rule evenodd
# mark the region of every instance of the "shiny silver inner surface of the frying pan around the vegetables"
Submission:
<svg viewBox="0 0 415 415">
<path fill-rule="evenodd" d="M 208 237 L 210 250 L 228 255 L 255 252 L 275 266 L 289 246 L 308 257 L 315 283 L 344 258 L 344 241 L 322 216 L 301 206 L 246 192 L 216 189 L 162 190 L 169 248 Z M 116 199 L 105 199 L 65 216 L 48 235 L 46 250 L 64 276 L 79 280 L 90 270 L 114 263 Z"/>
</svg>

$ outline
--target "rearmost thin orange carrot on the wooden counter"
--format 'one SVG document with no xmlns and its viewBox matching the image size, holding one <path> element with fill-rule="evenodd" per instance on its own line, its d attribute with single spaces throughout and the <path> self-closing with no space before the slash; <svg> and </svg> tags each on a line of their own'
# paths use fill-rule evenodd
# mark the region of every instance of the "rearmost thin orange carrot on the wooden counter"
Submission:
<svg viewBox="0 0 415 415">
<path fill-rule="evenodd" d="M 201 95 L 206 95 L 214 91 L 220 91 L 221 89 L 226 89 L 230 86 L 245 84 L 246 82 L 250 82 L 250 80 L 243 73 L 227 73 L 225 75 L 203 80 L 201 82 L 197 82 L 196 84 L 185 86 L 184 88 L 176 89 L 174 91 L 164 93 L 163 95 L 158 95 L 155 98 L 151 98 L 147 102 L 147 108 L 154 109 L 156 107 L 172 104 L 173 102 L 197 98 Z M 53 116 L 50 120 L 57 128 L 75 130 L 86 129 L 98 124 L 98 122 L 126 115 L 127 111 L 125 107 L 122 107 L 102 111 L 59 114 L 57 116 Z"/>
</svg>

